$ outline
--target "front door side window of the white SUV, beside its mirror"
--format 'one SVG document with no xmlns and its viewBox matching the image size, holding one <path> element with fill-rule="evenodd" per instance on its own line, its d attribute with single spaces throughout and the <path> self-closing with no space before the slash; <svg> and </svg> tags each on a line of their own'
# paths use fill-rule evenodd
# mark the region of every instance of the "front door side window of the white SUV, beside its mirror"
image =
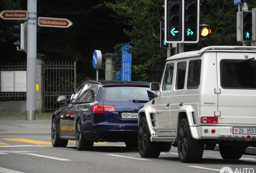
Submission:
<svg viewBox="0 0 256 173">
<path fill-rule="evenodd" d="M 170 91 L 172 86 L 174 63 L 167 64 L 163 79 L 163 91 Z"/>
</svg>

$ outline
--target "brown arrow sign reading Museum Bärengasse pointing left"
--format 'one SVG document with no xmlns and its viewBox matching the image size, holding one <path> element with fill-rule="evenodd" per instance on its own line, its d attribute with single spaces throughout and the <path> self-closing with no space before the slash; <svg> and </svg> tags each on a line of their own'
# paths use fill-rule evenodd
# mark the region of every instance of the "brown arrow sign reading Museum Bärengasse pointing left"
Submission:
<svg viewBox="0 0 256 173">
<path fill-rule="evenodd" d="M 5 10 L 0 13 L 0 18 L 5 20 L 26 20 L 27 11 L 24 10 Z"/>
</svg>

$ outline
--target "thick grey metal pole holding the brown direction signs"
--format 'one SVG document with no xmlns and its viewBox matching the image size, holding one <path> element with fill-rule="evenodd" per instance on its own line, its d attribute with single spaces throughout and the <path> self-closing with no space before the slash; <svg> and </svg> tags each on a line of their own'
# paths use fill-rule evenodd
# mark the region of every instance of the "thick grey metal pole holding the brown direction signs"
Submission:
<svg viewBox="0 0 256 173">
<path fill-rule="evenodd" d="M 27 0 L 27 101 L 26 120 L 35 120 L 37 58 L 37 0 Z"/>
</svg>

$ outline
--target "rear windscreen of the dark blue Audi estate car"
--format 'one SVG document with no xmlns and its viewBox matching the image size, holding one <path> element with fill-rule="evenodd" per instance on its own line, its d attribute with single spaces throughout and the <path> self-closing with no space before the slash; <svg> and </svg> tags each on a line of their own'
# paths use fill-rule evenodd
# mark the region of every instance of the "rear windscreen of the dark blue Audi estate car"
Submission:
<svg viewBox="0 0 256 173">
<path fill-rule="evenodd" d="M 156 95 L 149 87 L 103 87 L 102 100 L 107 102 L 150 101 Z"/>
</svg>

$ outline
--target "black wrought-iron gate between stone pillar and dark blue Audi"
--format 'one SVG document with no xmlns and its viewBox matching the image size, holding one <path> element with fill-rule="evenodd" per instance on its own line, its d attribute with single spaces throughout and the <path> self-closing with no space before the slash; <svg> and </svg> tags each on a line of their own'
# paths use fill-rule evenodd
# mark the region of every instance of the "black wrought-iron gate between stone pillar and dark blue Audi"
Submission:
<svg viewBox="0 0 256 173">
<path fill-rule="evenodd" d="M 44 110 L 56 110 L 63 105 L 58 96 L 70 97 L 76 89 L 76 62 L 44 62 L 43 69 Z"/>
</svg>

